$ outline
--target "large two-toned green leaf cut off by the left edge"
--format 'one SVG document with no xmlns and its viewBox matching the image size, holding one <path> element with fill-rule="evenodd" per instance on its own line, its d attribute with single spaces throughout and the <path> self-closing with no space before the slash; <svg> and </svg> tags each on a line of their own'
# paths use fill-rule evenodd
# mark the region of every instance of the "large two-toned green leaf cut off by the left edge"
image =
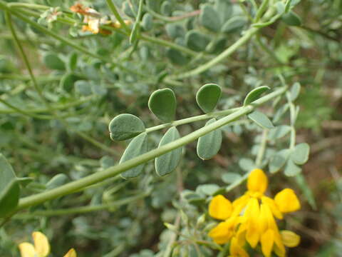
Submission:
<svg viewBox="0 0 342 257">
<path fill-rule="evenodd" d="M 0 217 L 11 213 L 19 201 L 19 181 L 12 166 L 0 153 Z"/>
</svg>

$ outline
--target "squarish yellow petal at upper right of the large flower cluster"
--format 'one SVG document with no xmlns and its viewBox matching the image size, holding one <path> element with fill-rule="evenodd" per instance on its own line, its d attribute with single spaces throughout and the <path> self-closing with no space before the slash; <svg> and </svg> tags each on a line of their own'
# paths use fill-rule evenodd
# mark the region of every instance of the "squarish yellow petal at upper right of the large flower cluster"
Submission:
<svg viewBox="0 0 342 257">
<path fill-rule="evenodd" d="M 282 213 L 297 211 L 301 208 L 301 203 L 296 193 L 290 188 L 285 188 L 274 197 L 274 201 Z"/>
</svg>

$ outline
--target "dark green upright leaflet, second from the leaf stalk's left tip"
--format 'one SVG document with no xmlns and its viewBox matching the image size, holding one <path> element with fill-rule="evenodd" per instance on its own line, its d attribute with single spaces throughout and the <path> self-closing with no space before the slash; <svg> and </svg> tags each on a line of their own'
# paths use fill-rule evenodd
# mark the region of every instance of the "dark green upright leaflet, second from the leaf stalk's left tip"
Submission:
<svg viewBox="0 0 342 257">
<path fill-rule="evenodd" d="M 171 89 L 158 89 L 151 94 L 148 100 L 150 111 L 165 122 L 175 119 L 176 106 L 176 96 Z"/>
</svg>

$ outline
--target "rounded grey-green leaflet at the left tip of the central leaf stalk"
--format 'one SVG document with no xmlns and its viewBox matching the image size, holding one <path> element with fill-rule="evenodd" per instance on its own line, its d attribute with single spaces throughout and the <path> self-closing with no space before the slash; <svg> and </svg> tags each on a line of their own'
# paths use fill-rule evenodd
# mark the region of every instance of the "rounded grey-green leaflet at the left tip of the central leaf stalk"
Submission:
<svg viewBox="0 0 342 257">
<path fill-rule="evenodd" d="M 108 129 L 112 140 L 123 141 L 144 132 L 145 125 L 133 114 L 120 114 L 110 121 Z"/>
</svg>

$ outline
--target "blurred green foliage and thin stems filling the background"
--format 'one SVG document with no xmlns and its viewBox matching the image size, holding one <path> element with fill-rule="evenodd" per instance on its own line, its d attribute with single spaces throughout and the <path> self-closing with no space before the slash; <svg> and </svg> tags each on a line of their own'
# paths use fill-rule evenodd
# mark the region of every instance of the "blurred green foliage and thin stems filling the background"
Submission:
<svg viewBox="0 0 342 257">
<path fill-rule="evenodd" d="M 227 9 L 219 8 L 224 2 L 229 3 Z M 239 40 L 260 1 L 145 1 L 136 38 L 123 27 L 105 24 L 98 34 L 83 31 L 83 16 L 71 11 L 75 1 L 0 1 L 0 148 L 18 176 L 33 179 L 21 194 L 38 193 L 118 163 L 126 143 L 110 140 L 110 120 L 130 113 L 140 117 L 146 127 L 160 124 L 147 107 L 156 89 L 175 91 L 176 119 L 184 119 L 202 114 L 195 94 L 203 84 L 222 86 L 218 106 L 229 109 L 240 106 L 257 86 L 278 86 L 276 74 L 280 72 L 287 83 L 301 83 L 296 100 L 300 106 L 297 142 L 311 146 L 302 171 L 311 198 L 299 193 L 301 211 L 287 221 L 302 238 L 289 256 L 341 256 L 342 1 L 294 2 L 293 11 L 301 24 L 292 25 L 299 26 L 278 19 L 210 69 L 182 77 Z M 115 20 L 108 1 L 78 3 Z M 113 4 L 123 19 L 135 23 L 138 1 L 114 0 Z M 222 24 L 214 24 L 212 16 L 203 18 L 206 5 L 214 8 Z M 6 22 L 9 9 L 19 12 L 12 13 L 12 24 L 41 92 L 36 90 Z M 234 23 L 227 25 L 232 18 Z M 262 110 L 270 114 L 271 106 Z M 180 127 L 180 133 L 201 126 L 203 122 L 187 124 Z M 198 189 L 203 184 L 224 186 L 222 174 L 226 172 L 243 174 L 241 160 L 254 158 L 250 150 L 259 134 L 236 124 L 224 131 L 222 148 L 209 161 L 200 160 L 195 143 L 190 143 L 170 176 L 156 176 L 149 162 L 138 178 L 110 178 L 85 191 L 33 206 L 1 227 L 0 256 L 19 256 L 17 244 L 30 240 L 36 230 L 51 238 L 53 256 L 62 256 L 70 247 L 76 248 L 79 256 L 89 257 L 165 256 L 167 242 L 175 234 L 163 223 L 177 220 L 182 202 L 179 195 L 185 190 L 204 190 Z M 151 134 L 150 148 L 157 146 L 161 136 Z M 51 178 L 58 174 L 64 175 L 58 176 L 54 185 Z M 279 174 L 270 179 L 272 192 L 284 186 L 303 192 L 294 178 Z M 229 196 L 243 191 L 244 186 L 237 187 Z M 127 198 L 120 206 L 108 206 Z M 106 206 L 100 211 L 91 208 L 98 205 Z M 86 206 L 86 211 L 68 212 L 81 206 Z M 206 208 L 204 203 L 187 205 L 185 216 L 196 221 Z M 48 212 L 56 209 L 66 213 Z M 189 248 L 190 256 L 197 256 L 191 243 L 182 246 Z M 214 256 L 205 250 L 203 254 Z"/>
</svg>

